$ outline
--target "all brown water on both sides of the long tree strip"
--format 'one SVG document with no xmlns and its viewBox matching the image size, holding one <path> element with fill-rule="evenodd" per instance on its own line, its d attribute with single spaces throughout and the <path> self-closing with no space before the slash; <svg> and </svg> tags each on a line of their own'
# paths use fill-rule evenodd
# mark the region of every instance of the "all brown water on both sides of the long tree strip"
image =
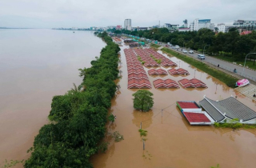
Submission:
<svg viewBox="0 0 256 168">
<path fill-rule="evenodd" d="M 106 44 L 91 32 L 62 30 L 0 30 L 0 163 L 5 159 L 26 159 L 38 130 L 48 122 L 51 98 L 82 81 L 78 68 L 90 66 Z M 110 142 L 106 154 L 91 158 L 95 168 L 206 168 L 255 167 L 256 130 L 231 130 L 213 126 L 190 126 L 176 101 L 200 101 L 203 96 L 221 100 L 237 93 L 218 79 L 193 66 L 170 58 L 190 72 L 186 78 L 198 78 L 206 89 L 155 89 L 154 106 L 148 113 L 133 108 L 127 90 L 126 58 L 121 47 L 122 78 L 120 92 L 112 100 L 110 112 L 117 115 L 106 125 L 108 133 L 118 131 L 124 140 Z M 159 51 L 160 52 L 160 51 Z M 162 53 L 162 52 L 160 52 Z M 146 71 L 149 70 L 145 68 Z M 167 68 L 166 70 L 169 70 Z M 151 84 L 158 78 L 176 82 L 182 76 L 149 76 Z M 256 109 L 250 98 L 238 100 Z M 145 150 L 138 129 L 147 130 Z M 22 167 L 22 166 L 20 166 Z"/>
</svg>

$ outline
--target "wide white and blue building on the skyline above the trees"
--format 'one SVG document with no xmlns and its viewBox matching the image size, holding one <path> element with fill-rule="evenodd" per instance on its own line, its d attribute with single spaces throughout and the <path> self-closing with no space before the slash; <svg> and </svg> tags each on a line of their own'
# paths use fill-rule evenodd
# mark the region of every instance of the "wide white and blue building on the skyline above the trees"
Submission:
<svg viewBox="0 0 256 168">
<path fill-rule="evenodd" d="M 210 19 L 194 19 L 193 22 L 190 23 L 190 31 L 198 31 L 202 28 L 214 30 L 214 23 L 210 23 Z"/>
</svg>

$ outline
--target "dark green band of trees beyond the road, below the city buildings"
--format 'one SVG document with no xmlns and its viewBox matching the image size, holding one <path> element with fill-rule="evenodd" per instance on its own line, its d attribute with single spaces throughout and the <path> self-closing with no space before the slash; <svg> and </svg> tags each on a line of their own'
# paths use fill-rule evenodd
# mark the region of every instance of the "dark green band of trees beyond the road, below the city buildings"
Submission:
<svg viewBox="0 0 256 168">
<path fill-rule="evenodd" d="M 202 51 L 206 46 L 206 53 L 228 56 L 233 60 L 244 60 L 246 54 L 256 51 L 256 31 L 251 34 L 240 35 L 236 29 L 230 29 L 228 33 L 215 34 L 209 29 L 198 31 L 170 33 L 166 28 L 153 30 L 112 30 L 118 34 L 132 34 L 134 36 L 158 40 L 160 42 L 170 42 L 173 45 L 185 46 L 192 50 Z M 154 33 L 153 33 L 154 32 Z M 256 54 L 250 54 L 248 58 L 256 59 Z M 256 65 L 255 65 L 256 66 Z"/>
</svg>

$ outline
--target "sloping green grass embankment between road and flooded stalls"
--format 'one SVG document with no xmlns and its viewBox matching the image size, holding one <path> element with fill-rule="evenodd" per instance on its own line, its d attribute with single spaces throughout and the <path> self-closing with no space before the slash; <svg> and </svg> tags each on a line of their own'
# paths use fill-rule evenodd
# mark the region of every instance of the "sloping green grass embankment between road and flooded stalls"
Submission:
<svg viewBox="0 0 256 168">
<path fill-rule="evenodd" d="M 232 88 L 235 87 L 235 82 L 238 81 L 238 78 L 235 78 L 231 76 L 230 74 L 226 74 L 222 72 L 221 70 L 217 70 L 214 68 L 211 68 L 210 66 L 207 66 L 205 63 L 195 60 L 194 58 L 187 57 L 186 55 L 179 54 L 173 50 L 162 48 L 162 51 L 166 52 L 167 54 L 174 55 L 175 57 L 181 59 L 184 62 L 189 63 L 191 66 L 194 66 L 198 68 L 199 70 L 202 70 L 206 72 L 207 74 L 210 74 L 214 78 L 218 78 L 218 80 L 226 83 L 227 86 L 230 86 Z"/>
</svg>

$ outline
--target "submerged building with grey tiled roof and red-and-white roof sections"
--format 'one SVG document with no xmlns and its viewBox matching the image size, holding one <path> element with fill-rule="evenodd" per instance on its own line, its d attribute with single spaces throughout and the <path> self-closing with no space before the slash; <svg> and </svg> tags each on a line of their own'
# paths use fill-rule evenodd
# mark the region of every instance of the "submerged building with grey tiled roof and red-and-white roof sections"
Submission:
<svg viewBox="0 0 256 168">
<path fill-rule="evenodd" d="M 204 97 L 198 103 L 194 101 L 176 102 L 190 125 L 211 125 L 214 122 L 256 123 L 256 112 L 232 96 L 221 101 Z"/>
</svg>

